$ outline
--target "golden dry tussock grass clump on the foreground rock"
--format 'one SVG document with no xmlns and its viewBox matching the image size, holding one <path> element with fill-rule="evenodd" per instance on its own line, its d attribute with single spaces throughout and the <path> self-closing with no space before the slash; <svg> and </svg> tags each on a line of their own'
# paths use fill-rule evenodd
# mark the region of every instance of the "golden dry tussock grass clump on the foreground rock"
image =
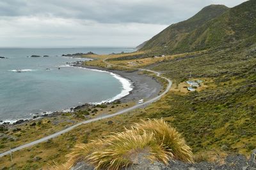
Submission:
<svg viewBox="0 0 256 170">
<path fill-rule="evenodd" d="M 191 148 L 175 128 L 163 120 L 149 120 L 136 123 L 131 130 L 113 133 L 105 139 L 77 144 L 67 155 L 68 162 L 56 164 L 52 169 L 70 169 L 81 160 L 92 164 L 95 169 L 121 169 L 133 164 L 134 158 L 140 153 L 145 153 L 145 158 L 152 162 L 193 162 Z"/>
</svg>

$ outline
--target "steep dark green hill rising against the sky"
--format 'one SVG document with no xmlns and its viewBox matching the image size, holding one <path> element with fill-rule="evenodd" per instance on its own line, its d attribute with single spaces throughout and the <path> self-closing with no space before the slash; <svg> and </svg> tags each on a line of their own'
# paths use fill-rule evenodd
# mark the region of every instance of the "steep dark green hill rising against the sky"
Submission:
<svg viewBox="0 0 256 170">
<path fill-rule="evenodd" d="M 256 33 L 255 9 L 255 0 L 230 9 L 223 5 L 207 6 L 191 19 L 167 27 L 141 50 L 173 54 L 250 38 Z"/>
</svg>

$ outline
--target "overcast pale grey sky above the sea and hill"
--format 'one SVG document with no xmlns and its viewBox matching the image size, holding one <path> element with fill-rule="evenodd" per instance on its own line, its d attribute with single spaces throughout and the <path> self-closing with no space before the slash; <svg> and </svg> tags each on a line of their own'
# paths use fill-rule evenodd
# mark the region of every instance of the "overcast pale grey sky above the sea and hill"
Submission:
<svg viewBox="0 0 256 170">
<path fill-rule="evenodd" d="M 136 47 L 209 4 L 245 0 L 0 0 L 0 47 Z"/>
</svg>

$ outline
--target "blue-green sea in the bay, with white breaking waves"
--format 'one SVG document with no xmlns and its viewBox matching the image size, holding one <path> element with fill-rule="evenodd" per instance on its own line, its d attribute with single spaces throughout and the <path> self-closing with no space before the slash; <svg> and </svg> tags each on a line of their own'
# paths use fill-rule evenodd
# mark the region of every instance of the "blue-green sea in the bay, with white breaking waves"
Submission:
<svg viewBox="0 0 256 170">
<path fill-rule="evenodd" d="M 132 52 L 121 47 L 0 48 L 0 120 L 29 119 L 35 114 L 65 111 L 84 103 L 111 102 L 129 94 L 129 80 L 114 73 L 77 68 L 86 61 L 63 57 L 77 52 Z M 32 55 L 49 57 L 31 58 Z M 60 69 L 59 69 L 60 68 Z"/>
</svg>

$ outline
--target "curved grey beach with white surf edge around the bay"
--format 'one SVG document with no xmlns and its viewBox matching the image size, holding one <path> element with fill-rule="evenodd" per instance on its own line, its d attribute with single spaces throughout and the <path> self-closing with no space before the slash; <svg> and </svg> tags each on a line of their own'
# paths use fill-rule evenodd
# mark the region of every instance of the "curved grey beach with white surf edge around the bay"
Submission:
<svg viewBox="0 0 256 170">
<path fill-rule="evenodd" d="M 49 112 L 40 112 L 38 114 L 31 114 L 31 118 L 20 118 L 16 120 L 1 120 L 0 125 L 7 125 L 7 126 L 13 126 L 13 125 L 20 125 L 22 123 L 28 123 L 29 121 L 35 121 L 35 120 L 40 120 L 45 117 L 54 117 L 61 115 L 62 113 L 65 112 L 74 112 L 74 110 L 77 107 L 83 107 L 83 105 L 97 105 L 97 104 L 111 104 L 115 101 L 120 101 L 120 102 L 131 102 L 131 101 L 136 101 L 140 100 L 141 98 L 143 99 L 148 99 L 148 98 L 153 98 L 156 97 L 161 91 L 161 88 L 163 86 L 157 82 L 154 78 L 149 77 L 148 75 L 139 75 L 138 71 L 124 71 L 124 70 L 111 70 L 108 68 L 103 68 L 99 66 L 88 66 L 88 65 L 83 65 L 83 62 L 77 61 L 76 63 L 70 63 L 70 66 L 76 66 L 78 68 L 83 68 L 83 69 L 89 69 L 89 70 L 94 70 L 98 72 L 108 72 L 113 76 L 119 77 L 120 79 L 126 79 L 129 81 L 129 88 L 125 89 L 124 84 L 120 81 L 120 83 L 123 86 L 123 90 L 121 93 L 116 95 L 115 97 L 109 98 L 108 100 L 104 100 L 99 103 L 84 103 L 84 104 L 79 104 L 75 107 L 69 107 L 66 109 L 62 109 L 60 111 L 49 111 Z M 124 91 L 125 90 L 125 91 Z M 125 93 L 125 95 L 122 95 L 122 93 Z M 122 95 L 122 97 L 118 97 L 119 95 Z"/>
</svg>

